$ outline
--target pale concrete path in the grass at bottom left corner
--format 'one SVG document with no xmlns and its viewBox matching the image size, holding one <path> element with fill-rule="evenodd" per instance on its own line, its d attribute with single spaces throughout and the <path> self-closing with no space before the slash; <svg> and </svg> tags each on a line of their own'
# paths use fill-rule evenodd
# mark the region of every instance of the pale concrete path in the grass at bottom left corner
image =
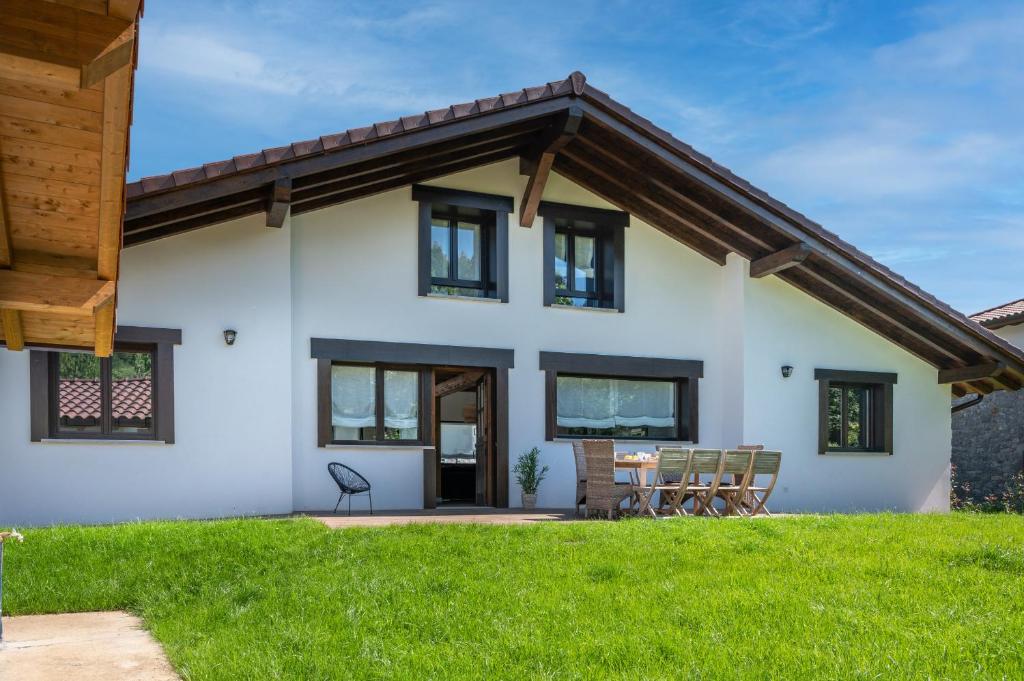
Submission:
<svg viewBox="0 0 1024 681">
<path fill-rule="evenodd" d="M 177 681 L 164 649 L 127 612 L 4 618 L 3 681 Z"/>
</svg>

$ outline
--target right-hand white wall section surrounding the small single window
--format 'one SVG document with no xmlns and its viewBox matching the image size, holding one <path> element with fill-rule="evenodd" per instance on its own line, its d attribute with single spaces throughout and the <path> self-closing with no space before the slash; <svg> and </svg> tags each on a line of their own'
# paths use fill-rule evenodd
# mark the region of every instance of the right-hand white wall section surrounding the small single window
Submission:
<svg viewBox="0 0 1024 681">
<path fill-rule="evenodd" d="M 743 439 L 783 453 L 774 508 L 948 510 L 949 386 L 936 370 L 778 278 L 744 282 Z M 898 375 L 892 456 L 817 453 L 815 369 Z"/>
</svg>

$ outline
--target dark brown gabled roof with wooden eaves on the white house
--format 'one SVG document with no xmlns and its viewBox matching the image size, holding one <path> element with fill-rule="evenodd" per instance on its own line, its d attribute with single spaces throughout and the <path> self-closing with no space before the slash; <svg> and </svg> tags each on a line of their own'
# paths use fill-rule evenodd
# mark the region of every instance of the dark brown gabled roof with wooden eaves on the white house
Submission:
<svg viewBox="0 0 1024 681">
<path fill-rule="evenodd" d="M 566 125 L 570 119 L 574 126 Z M 956 394 L 1024 382 L 1019 348 L 637 116 L 579 72 L 133 182 L 125 245 L 257 213 L 280 225 L 283 207 L 298 215 L 508 158 L 519 157 L 529 174 L 543 152 L 559 174 L 715 262 L 736 253 L 752 261 L 752 275 L 774 273 L 943 370 L 940 382 Z M 986 373 L 993 365 L 998 377 Z"/>
</svg>

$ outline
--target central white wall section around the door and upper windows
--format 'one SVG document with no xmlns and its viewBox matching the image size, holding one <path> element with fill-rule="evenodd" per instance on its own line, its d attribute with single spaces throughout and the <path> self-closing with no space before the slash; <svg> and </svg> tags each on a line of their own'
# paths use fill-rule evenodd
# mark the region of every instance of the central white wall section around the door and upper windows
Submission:
<svg viewBox="0 0 1024 681">
<path fill-rule="evenodd" d="M 513 160 L 431 183 L 517 197 L 518 202 L 525 181 Z M 557 175 L 544 196 L 547 201 L 613 208 Z M 419 297 L 417 220 L 409 187 L 293 219 L 297 509 L 334 506 L 337 491 L 325 473 L 330 461 L 351 464 L 374 481 L 375 508 L 419 507 L 423 499 L 420 450 L 316 446 L 311 337 L 513 348 L 510 459 L 541 448 L 551 466 L 538 499 L 542 506 L 571 506 L 574 482 L 569 482 L 575 473 L 569 445 L 544 441 L 541 350 L 703 359 L 706 374 L 721 373 L 714 330 L 723 309 L 718 298 L 723 269 L 638 220 L 626 229 L 625 314 L 544 307 L 542 220 L 527 229 L 518 226 L 514 215 L 509 218 L 509 303 Z M 721 441 L 722 385 L 701 385 L 702 442 L 710 446 Z M 509 500 L 519 503 L 514 485 Z"/>
</svg>

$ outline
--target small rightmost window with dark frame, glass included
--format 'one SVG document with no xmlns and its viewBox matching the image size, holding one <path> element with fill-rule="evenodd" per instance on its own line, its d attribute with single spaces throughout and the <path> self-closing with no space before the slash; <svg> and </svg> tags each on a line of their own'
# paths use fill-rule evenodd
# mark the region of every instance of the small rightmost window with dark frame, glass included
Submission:
<svg viewBox="0 0 1024 681">
<path fill-rule="evenodd" d="M 817 369 L 818 452 L 892 454 L 895 374 Z"/>
</svg>

